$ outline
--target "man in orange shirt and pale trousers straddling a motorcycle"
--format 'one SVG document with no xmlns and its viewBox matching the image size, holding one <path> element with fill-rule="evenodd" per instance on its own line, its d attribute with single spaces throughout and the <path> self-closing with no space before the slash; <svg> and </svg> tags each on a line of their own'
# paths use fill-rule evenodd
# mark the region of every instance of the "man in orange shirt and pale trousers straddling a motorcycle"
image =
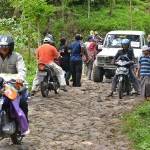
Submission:
<svg viewBox="0 0 150 150">
<path fill-rule="evenodd" d="M 65 72 L 62 70 L 60 66 L 58 66 L 54 60 L 57 59 L 60 54 L 57 51 L 57 49 L 52 46 L 54 43 L 54 40 L 52 36 L 45 37 L 43 40 L 43 44 L 38 47 L 36 50 L 36 59 L 39 64 L 44 64 L 44 65 L 50 65 L 54 71 L 56 72 L 56 76 L 58 78 L 59 84 L 60 84 L 60 89 L 63 91 L 66 90 L 66 81 L 65 81 Z M 36 73 L 36 76 L 33 80 L 33 85 L 32 85 L 32 91 L 31 95 L 33 96 L 37 91 L 39 87 L 39 81 L 38 81 L 38 71 Z"/>
</svg>

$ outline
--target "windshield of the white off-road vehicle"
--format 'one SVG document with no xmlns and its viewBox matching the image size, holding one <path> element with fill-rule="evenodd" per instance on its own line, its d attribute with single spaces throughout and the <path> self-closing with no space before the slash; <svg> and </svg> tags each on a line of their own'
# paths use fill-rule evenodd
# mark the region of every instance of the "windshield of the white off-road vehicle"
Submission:
<svg viewBox="0 0 150 150">
<path fill-rule="evenodd" d="M 121 48 L 122 39 L 129 39 L 131 41 L 132 48 L 140 48 L 140 36 L 139 35 L 121 35 L 121 34 L 108 34 L 104 43 L 104 47 L 107 48 Z"/>
</svg>

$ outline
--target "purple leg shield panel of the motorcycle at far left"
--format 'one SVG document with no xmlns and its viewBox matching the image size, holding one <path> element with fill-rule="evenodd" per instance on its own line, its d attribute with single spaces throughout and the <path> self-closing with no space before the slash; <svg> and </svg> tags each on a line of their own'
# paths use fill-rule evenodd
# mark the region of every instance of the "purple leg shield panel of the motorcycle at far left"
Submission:
<svg viewBox="0 0 150 150">
<path fill-rule="evenodd" d="M 14 101 L 11 102 L 12 103 L 12 107 L 11 107 L 11 114 L 14 114 L 13 117 L 15 117 L 18 121 L 20 130 L 21 130 L 21 134 L 24 133 L 25 131 L 28 130 L 29 128 L 29 124 L 27 121 L 27 118 L 24 114 L 24 112 L 22 111 L 22 109 L 20 108 L 19 104 L 20 104 L 20 97 L 18 96 Z"/>
</svg>

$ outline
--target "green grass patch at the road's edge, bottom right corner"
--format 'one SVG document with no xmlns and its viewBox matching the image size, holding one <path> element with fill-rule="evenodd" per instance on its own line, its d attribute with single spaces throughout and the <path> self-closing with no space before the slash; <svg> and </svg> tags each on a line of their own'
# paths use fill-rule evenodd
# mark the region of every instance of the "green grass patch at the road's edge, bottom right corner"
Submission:
<svg viewBox="0 0 150 150">
<path fill-rule="evenodd" d="M 150 150 L 150 102 L 138 106 L 123 118 L 124 132 L 135 150 Z"/>
</svg>

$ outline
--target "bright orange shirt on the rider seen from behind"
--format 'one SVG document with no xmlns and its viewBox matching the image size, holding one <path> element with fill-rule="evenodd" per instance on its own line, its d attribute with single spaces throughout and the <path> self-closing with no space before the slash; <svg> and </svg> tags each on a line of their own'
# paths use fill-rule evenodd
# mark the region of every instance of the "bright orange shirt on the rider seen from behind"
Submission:
<svg viewBox="0 0 150 150">
<path fill-rule="evenodd" d="M 59 57 L 59 52 L 54 46 L 43 44 L 36 50 L 36 57 L 39 64 L 49 64 Z"/>
</svg>

